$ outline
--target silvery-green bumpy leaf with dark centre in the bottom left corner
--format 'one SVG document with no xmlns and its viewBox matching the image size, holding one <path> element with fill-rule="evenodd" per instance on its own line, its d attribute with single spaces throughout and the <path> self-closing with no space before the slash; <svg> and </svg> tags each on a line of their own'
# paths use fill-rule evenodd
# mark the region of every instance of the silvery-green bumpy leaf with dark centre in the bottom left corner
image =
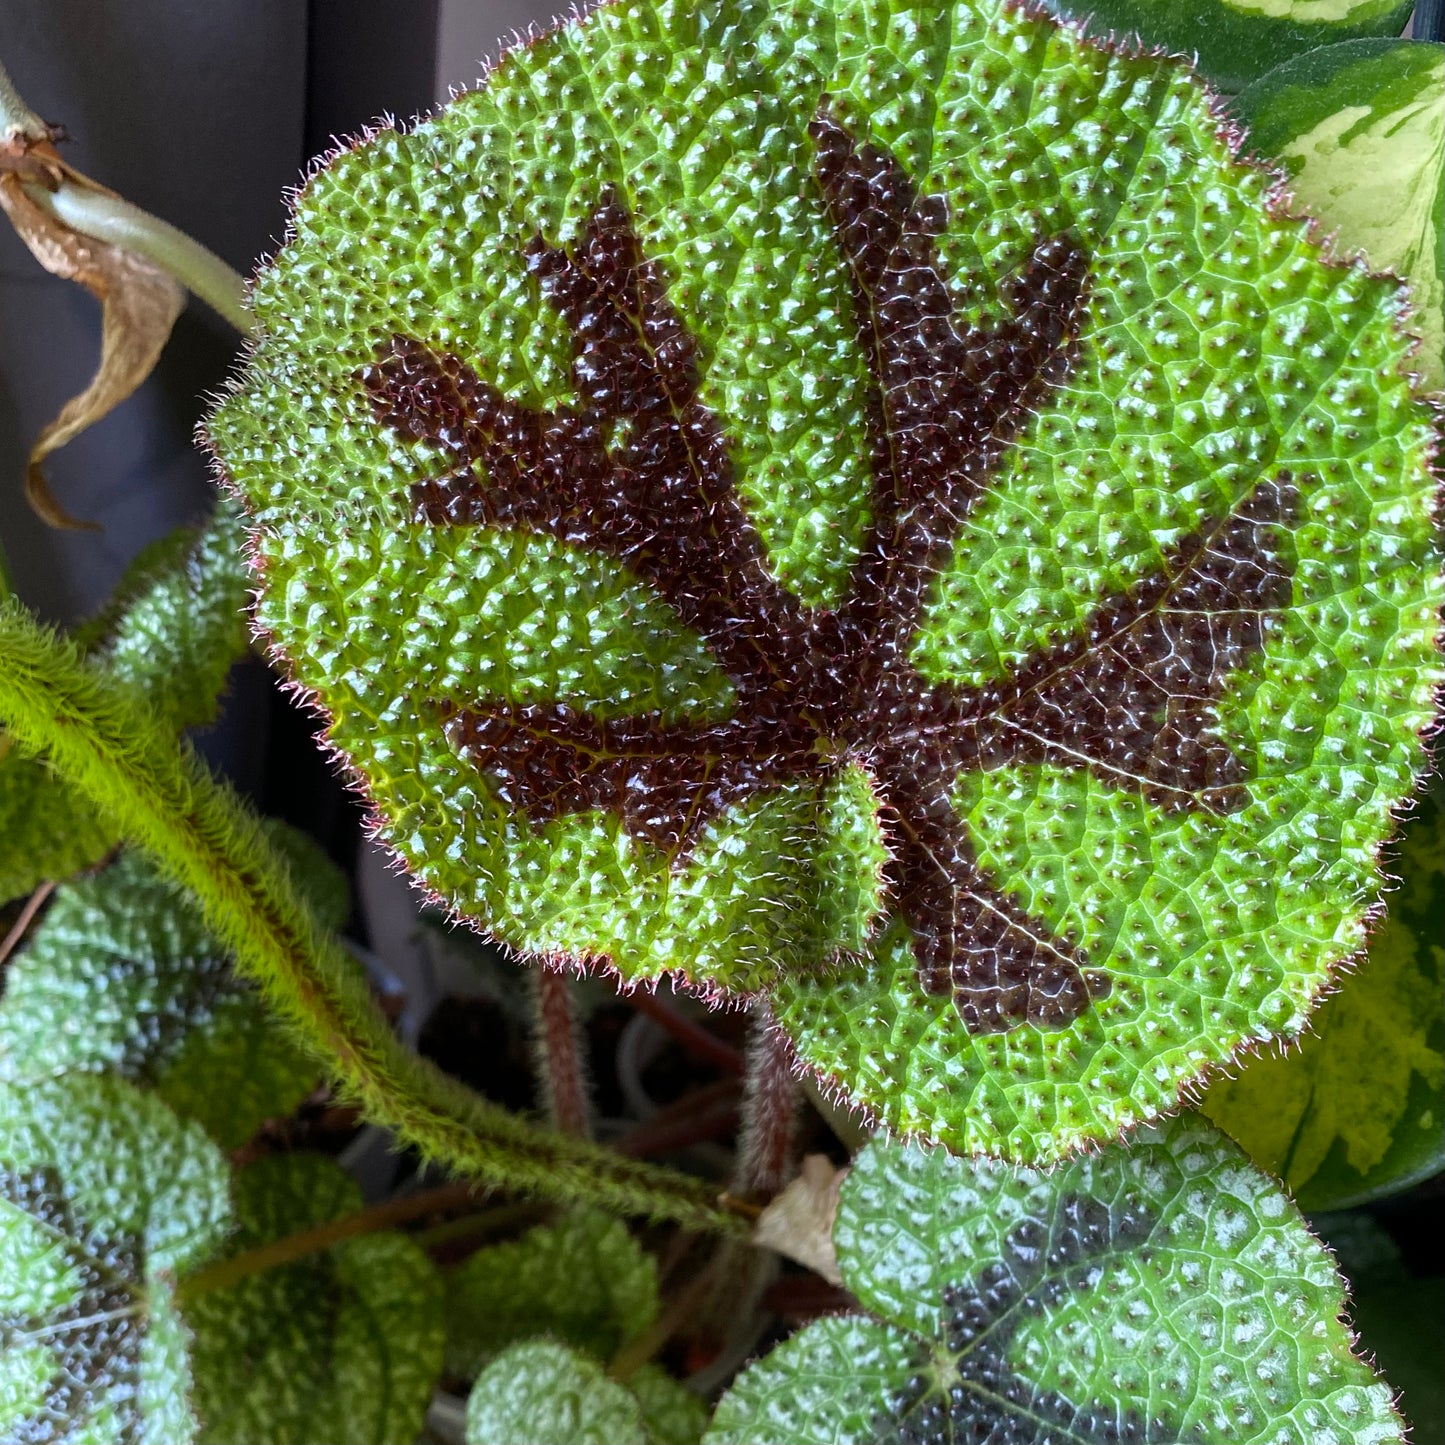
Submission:
<svg viewBox="0 0 1445 1445">
<path fill-rule="evenodd" d="M 172 1279 L 227 1217 L 225 1160 L 159 1100 L 0 1084 L 0 1438 L 188 1445 Z"/>
</svg>

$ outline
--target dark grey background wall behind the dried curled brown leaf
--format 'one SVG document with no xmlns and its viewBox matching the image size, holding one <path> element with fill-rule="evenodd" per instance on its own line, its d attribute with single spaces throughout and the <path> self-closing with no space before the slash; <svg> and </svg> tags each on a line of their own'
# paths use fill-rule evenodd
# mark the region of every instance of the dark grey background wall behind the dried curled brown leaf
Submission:
<svg viewBox="0 0 1445 1445">
<path fill-rule="evenodd" d="M 332 136 L 432 105 L 438 0 L 0 4 L 0 58 L 32 108 L 71 134 L 66 159 L 243 273 L 279 244 L 283 194 Z M 142 545 L 205 517 L 212 487 L 192 434 L 237 345 L 192 301 L 136 396 L 49 460 L 64 504 L 104 530 L 52 530 L 25 503 L 25 457 L 90 379 L 100 308 L 0 224 L 0 542 L 43 617 L 84 617 Z M 338 857 L 354 851 L 355 808 L 260 663 L 237 668 L 221 722 L 199 741 L 266 811 Z"/>
</svg>

